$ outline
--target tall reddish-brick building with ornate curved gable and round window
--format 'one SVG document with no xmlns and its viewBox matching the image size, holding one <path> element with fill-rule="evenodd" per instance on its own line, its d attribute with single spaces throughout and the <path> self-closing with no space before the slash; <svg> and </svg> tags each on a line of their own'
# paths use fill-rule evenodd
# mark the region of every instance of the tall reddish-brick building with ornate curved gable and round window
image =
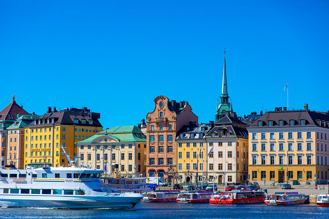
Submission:
<svg viewBox="0 0 329 219">
<path fill-rule="evenodd" d="M 146 115 L 146 174 L 173 183 L 176 181 L 176 133 L 189 121 L 198 123 L 198 116 L 186 101 L 176 103 L 161 95 L 154 103 L 154 110 Z"/>
</svg>

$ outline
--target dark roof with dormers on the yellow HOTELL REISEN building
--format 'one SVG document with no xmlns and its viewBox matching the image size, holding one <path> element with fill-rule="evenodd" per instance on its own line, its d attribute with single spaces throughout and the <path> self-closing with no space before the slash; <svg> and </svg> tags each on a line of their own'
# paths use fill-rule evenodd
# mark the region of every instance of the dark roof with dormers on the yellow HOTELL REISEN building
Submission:
<svg viewBox="0 0 329 219">
<path fill-rule="evenodd" d="M 38 127 L 38 126 L 44 126 L 45 124 L 42 124 L 42 119 L 45 119 L 45 123 L 47 122 L 47 119 L 50 120 L 54 118 L 54 125 L 80 125 L 80 126 L 90 126 L 90 127 L 102 127 L 101 123 L 99 122 L 98 118 L 91 118 L 91 112 L 76 112 L 76 111 L 67 111 L 67 110 L 61 110 L 57 112 L 49 112 L 45 113 L 42 116 L 40 116 L 38 119 L 41 119 L 41 124 L 34 125 L 34 122 L 28 125 L 28 127 Z M 79 123 L 74 123 L 74 119 L 78 119 Z M 85 119 L 86 124 L 82 124 L 81 120 Z M 89 124 L 89 120 L 92 120 L 92 124 Z"/>
</svg>

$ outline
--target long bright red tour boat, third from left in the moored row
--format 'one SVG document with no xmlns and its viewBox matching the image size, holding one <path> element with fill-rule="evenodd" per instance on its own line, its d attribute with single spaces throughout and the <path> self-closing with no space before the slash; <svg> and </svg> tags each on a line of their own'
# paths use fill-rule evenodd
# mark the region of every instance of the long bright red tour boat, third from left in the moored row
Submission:
<svg viewBox="0 0 329 219">
<path fill-rule="evenodd" d="M 211 196 L 210 204 L 264 203 L 266 196 L 261 191 L 220 192 Z"/>
</svg>

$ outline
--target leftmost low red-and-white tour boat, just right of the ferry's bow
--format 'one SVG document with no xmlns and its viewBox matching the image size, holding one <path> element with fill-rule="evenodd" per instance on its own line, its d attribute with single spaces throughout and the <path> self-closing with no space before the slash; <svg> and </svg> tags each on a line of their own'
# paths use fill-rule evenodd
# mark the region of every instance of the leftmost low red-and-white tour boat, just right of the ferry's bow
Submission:
<svg viewBox="0 0 329 219">
<path fill-rule="evenodd" d="M 155 190 L 153 192 L 147 192 L 142 202 L 174 202 L 177 199 L 179 190 Z"/>
</svg>

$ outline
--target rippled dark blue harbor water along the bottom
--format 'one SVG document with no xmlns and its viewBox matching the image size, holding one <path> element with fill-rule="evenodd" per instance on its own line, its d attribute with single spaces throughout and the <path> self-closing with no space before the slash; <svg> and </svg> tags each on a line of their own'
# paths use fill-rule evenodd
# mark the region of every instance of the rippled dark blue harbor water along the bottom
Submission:
<svg viewBox="0 0 329 219">
<path fill-rule="evenodd" d="M 316 204 L 265 206 L 264 204 L 210 205 L 138 203 L 133 209 L 0 208 L 0 218 L 316 218 L 328 219 L 329 207 Z"/>
</svg>

